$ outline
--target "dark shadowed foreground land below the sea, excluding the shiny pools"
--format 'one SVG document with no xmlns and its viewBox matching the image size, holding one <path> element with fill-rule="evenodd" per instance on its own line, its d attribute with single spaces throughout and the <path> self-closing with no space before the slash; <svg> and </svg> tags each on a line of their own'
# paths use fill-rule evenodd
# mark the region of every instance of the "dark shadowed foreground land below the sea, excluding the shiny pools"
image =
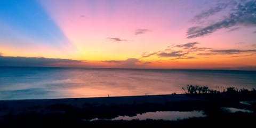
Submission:
<svg viewBox="0 0 256 128">
<path fill-rule="evenodd" d="M 131 97 L 68 98 L 42 100 L 0 100 L 0 127 L 250 127 L 256 121 L 256 94 L 172 94 Z M 245 105 L 240 101 L 251 101 Z M 221 107 L 234 107 L 253 113 L 227 113 Z M 203 110 L 206 117 L 178 121 L 147 119 L 144 121 L 90 122 L 92 118 L 135 116 L 154 111 Z"/>
</svg>

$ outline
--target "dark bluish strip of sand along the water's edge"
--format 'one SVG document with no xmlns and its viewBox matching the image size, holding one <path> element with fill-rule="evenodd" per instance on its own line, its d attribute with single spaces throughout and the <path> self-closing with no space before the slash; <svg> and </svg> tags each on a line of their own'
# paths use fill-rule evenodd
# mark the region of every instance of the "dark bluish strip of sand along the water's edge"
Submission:
<svg viewBox="0 0 256 128">
<path fill-rule="evenodd" d="M 46 107 L 55 104 L 72 105 L 82 108 L 84 104 L 94 106 L 101 105 L 133 105 L 142 103 L 166 103 L 178 101 L 193 101 L 198 98 L 187 97 L 186 94 L 169 94 L 169 95 L 141 95 L 141 96 L 125 96 L 125 97 L 99 97 L 99 98 L 65 98 L 65 99 L 32 99 L 32 100 L 0 100 L 1 111 L 12 110 L 22 111 L 27 108 L 36 106 Z M 1 114 L 0 114 L 1 116 Z"/>
</svg>

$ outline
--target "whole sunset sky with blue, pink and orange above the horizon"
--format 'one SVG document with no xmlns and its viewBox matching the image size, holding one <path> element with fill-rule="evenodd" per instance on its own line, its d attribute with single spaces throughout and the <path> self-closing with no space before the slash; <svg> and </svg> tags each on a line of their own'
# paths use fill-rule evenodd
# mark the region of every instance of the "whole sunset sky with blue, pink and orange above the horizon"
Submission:
<svg viewBox="0 0 256 128">
<path fill-rule="evenodd" d="M 0 66 L 256 69 L 256 1 L 0 1 Z"/>
</svg>

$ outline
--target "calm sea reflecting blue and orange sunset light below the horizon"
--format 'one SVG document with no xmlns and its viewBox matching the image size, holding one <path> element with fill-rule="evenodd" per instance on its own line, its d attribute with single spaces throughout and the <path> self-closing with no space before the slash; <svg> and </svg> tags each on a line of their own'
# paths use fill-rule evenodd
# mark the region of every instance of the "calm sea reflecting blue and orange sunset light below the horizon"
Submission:
<svg viewBox="0 0 256 128">
<path fill-rule="evenodd" d="M 0 100 L 183 93 L 187 84 L 256 88 L 256 71 L 0 67 Z"/>
</svg>

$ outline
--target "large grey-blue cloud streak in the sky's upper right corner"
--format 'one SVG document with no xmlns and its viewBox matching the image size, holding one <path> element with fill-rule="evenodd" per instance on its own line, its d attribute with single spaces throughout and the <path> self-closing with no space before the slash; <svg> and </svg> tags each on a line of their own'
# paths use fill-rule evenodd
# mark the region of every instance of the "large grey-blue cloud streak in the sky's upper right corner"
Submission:
<svg viewBox="0 0 256 128">
<path fill-rule="evenodd" d="M 194 26 L 188 28 L 187 38 L 196 38 L 209 35 L 219 29 L 231 28 L 237 25 L 256 26 L 256 1 L 235 4 L 235 6 L 230 10 L 231 13 L 229 13 L 225 19 L 212 23 L 211 25 L 205 27 Z M 210 16 L 209 14 L 207 15 Z"/>
</svg>

